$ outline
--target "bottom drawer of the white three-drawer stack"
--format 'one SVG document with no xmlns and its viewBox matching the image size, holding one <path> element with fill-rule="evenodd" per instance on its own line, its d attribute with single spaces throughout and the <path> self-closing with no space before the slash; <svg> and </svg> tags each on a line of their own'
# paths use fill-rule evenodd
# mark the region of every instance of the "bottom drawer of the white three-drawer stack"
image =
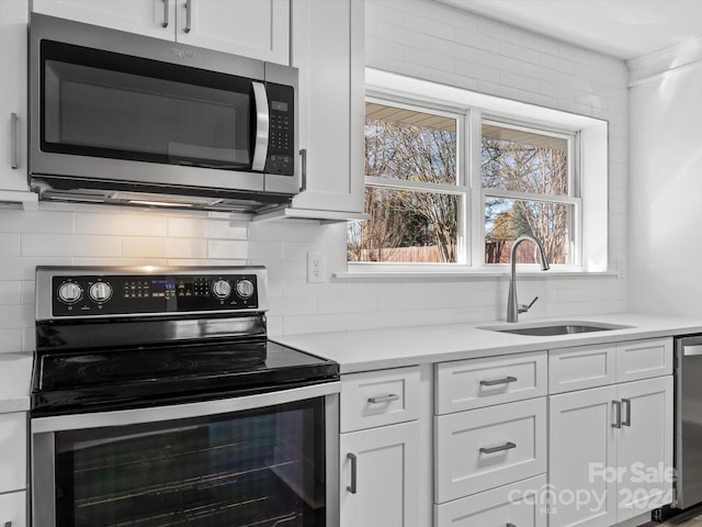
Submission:
<svg viewBox="0 0 702 527">
<path fill-rule="evenodd" d="M 546 527 L 546 476 L 434 505 L 435 527 Z"/>
</svg>

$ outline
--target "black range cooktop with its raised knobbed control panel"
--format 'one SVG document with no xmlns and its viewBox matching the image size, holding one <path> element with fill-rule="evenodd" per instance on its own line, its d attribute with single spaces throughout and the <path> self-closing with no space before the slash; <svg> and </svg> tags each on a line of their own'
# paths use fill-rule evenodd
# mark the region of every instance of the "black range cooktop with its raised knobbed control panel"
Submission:
<svg viewBox="0 0 702 527">
<path fill-rule="evenodd" d="M 336 381 L 267 338 L 265 269 L 37 268 L 33 414 L 121 410 Z"/>
</svg>

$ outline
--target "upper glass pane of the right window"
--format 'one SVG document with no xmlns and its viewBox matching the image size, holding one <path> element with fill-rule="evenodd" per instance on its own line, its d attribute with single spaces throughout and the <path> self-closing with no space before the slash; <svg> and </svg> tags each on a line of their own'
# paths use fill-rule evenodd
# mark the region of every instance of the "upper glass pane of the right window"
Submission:
<svg viewBox="0 0 702 527">
<path fill-rule="evenodd" d="M 483 187 L 568 194 L 568 141 L 561 137 L 483 124 Z"/>
</svg>

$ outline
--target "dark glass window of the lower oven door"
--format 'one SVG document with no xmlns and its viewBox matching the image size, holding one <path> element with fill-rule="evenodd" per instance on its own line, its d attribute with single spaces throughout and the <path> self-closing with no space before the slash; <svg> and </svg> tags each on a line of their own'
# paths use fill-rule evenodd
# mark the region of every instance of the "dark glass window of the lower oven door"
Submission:
<svg viewBox="0 0 702 527">
<path fill-rule="evenodd" d="M 324 397 L 59 431 L 56 525 L 324 526 Z"/>
</svg>

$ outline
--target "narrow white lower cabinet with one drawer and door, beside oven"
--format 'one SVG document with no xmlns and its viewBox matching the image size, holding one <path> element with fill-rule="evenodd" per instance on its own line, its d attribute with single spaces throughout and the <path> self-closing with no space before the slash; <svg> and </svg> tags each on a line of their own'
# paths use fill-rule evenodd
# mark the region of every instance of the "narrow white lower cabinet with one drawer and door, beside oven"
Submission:
<svg viewBox="0 0 702 527">
<path fill-rule="evenodd" d="M 341 377 L 341 527 L 426 527 L 431 517 L 430 367 Z M 422 427 L 422 423 L 424 426 Z"/>
</svg>

